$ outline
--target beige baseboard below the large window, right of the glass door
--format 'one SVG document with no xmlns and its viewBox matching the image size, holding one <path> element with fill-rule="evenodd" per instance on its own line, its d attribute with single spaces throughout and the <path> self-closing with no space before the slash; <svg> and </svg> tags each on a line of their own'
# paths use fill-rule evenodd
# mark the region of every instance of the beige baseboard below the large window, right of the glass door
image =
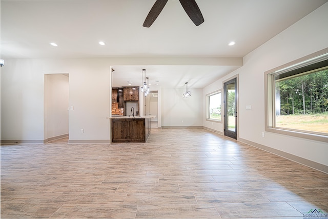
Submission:
<svg viewBox="0 0 328 219">
<path fill-rule="evenodd" d="M 268 151 L 270 153 L 273 153 L 273 154 L 276 154 L 278 156 L 284 157 L 288 160 L 294 161 L 296 163 L 302 164 L 304 166 L 307 166 L 307 167 L 310 167 L 312 169 L 315 169 L 315 170 L 318 170 L 320 172 L 328 174 L 328 166 L 325 166 L 323 164 L 319 164 L 317 162 L 310 161 L 308 159 L 296 156 L 294 154 L 286 153 L 286 152 L 283 152 L 283 151 L 280 151 L 280 150 L 277 150 L 277 149 L 274 149 L 274 148 L 271 148 L 271 147 L 268 147 L 268 146 L 264 146 L 264 145 L 261 145 L 261 144 L 255 143 L 255 142 L 251 142 L 251 141 L 245 140 L 243 138 L 238 138 L 238 141 L 242 142 L 242 143 L 245 143 L 245 144 L 248 144 L 250 146 L 254 146 L 254 147 L 259 148 L 261 150 Z"/>
</svg>

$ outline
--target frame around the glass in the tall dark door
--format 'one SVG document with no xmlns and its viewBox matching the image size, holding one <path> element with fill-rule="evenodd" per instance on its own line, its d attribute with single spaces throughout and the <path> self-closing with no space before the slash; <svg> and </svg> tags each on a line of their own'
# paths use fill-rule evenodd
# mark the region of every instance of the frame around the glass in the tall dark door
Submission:
<svg viewBox="0 0 328 219">
<path fill-rule="evenodd" d="M 235 120 L 235 125 L 236 125 L 236 129 L 235 129 L 235 133 L 230 133 L 229 131 L 226 132 L 226 125 L 227 125 L 227 122 L 226 122 L 226 119 L 228 118 L 226 116 L 226 109 L 227 109 L 227 106 L 226 106 L 226 86 L 225 84 L 229 83 L 229 82 L 232 82 L 232 81 L 235 81 L 235 109 L 236 109 L 236 113 L 235 113 L 235 117 L 236 117 L 236 120 Z M 228 137 L 232 137 L 236 140 L 238 140 L 239 138 L 239 89 L 238 89 L 238 74 L 237 75 L 234 75 L 232 77 L 230 77 L 229 79 L 225 80 L 222 82 L 222 88 L 223 88 L 223 135 L 224 136 L 228 136 Z"/>
</svg>

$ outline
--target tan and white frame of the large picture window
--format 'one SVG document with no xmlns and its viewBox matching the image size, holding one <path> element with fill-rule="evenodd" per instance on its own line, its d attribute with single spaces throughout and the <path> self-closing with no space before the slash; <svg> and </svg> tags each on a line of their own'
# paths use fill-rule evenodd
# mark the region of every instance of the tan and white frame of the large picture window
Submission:
<svg viewBox="0 0 328 219">
<path fill-rule="evenodd" d="M 328 57 L 328 48 L 313 54 L 299 58 L 293 62 L 279 66 L 264 72 L 264 103 L 265 103 L 265 131 L 277 134 L 306 138 L 315 141 L 328 142 L 328 134 L 300 129 L 289 129 L 276 127 L 276 107 L 275 107 L 275 76 L 285 72 L 297 70 L 305 66 L 322 61 Z M 298 73 L 302 74 L 302 73 Z M 297 74 L 295 74 L 297 75 Z"/>
</svg>

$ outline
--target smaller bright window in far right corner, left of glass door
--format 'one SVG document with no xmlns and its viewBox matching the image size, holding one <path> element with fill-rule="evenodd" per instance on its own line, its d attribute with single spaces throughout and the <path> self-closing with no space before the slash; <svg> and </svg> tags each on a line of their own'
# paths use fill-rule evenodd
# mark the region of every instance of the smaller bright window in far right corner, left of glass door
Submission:
<svg viewBox="0 0 328 219">
<path fill-rule="evenodd" d="M 206 119 L 221 122 L 221 91 L 206 95 Z"/>
</svg>

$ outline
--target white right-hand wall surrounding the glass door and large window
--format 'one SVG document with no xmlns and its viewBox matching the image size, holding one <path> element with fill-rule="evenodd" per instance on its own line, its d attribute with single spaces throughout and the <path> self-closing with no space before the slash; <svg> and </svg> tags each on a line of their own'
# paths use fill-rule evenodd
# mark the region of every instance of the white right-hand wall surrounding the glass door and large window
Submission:
<svg viewBox="0 0 328 219">
<path fill-rule="evenodd" d="M 249 53 L 243 67 L 203 89 L 203 95 L 222 88 L 222 81 L 239 75 L 239 138 L 294 154 L 328 166 L 328 144 L 264 132 L 264 72 L 328 47 L 328 3 Z M 205 98 L 203 98 L 205 105 Z M 251 105 L 252 110 L 245 110 Z M 204 109 L 204 107 L 203 107 Z M 205 111 L 203 110 L 203 115 Z M 208 122 L 203 125 L 209 128 Z M 215 127 L 222 131 L 220 124 Z"/>
</svg>

